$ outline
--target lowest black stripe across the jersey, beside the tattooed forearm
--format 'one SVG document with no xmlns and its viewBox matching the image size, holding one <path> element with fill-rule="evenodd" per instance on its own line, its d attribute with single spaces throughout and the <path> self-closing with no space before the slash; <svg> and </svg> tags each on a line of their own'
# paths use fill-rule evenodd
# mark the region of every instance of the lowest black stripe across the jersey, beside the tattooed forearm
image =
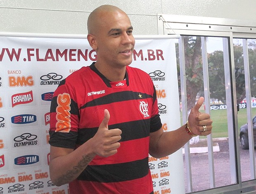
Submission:
<svg viewBox="0 0 256 194">
<path fill-rule="evenodd" d="M 122 182 L 145 177 L 148 173 L 149 166 L 147 157 L 142 160 L 127 163 L 89 165 L 77 179 L 96 182 Z"/>
</svg>

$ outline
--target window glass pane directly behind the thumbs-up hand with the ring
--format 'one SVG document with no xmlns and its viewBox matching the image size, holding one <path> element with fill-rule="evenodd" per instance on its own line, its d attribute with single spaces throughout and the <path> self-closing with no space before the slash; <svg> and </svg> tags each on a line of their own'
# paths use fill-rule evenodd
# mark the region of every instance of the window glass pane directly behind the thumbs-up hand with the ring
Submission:
<svg viewBox="0 0 256 194">
<path fill-rule="evenodd" d="M 216 187 L 231 185 L 230 156 L 228 144 L 228 121 L 223 60 L 223 38 L 207 37 L 207 56 L 209 68 L 209 91 L 211 98 L 211 118 L 213 120 L 213 157 Z M 184 36 L 185 72 L 188 111 L 200 96 L 204 96 L 204 82 L 201 56 L 201 37 Z M 178 49 L 176 48 L 177 52 Z M 178 58 L 178 53 L 177 53 Z M 179 72 L 179 62 L 178 72 Z M 178 75 L 178 78 L 179 75 Z M 179 79 L 180 80 L 180 79 Z M 182 106 L 181 106 L 182 111 Z M 204 111 L 204 106 L 200 111 Z M 181 114 L 182 115 L 182 114 Z M 206 137 L 190 142 L 190 161 L 192 169 L 192 192 L 210 188 L 209 161 Z M 185 156 L 184 172 L 186 173 Z M 199 178 L 200 177 L 200 178 Z M 185 175 L 187 178 L 187 175 Z M 189 180 L 185 180 L 188 192 Z"/>
</svg>

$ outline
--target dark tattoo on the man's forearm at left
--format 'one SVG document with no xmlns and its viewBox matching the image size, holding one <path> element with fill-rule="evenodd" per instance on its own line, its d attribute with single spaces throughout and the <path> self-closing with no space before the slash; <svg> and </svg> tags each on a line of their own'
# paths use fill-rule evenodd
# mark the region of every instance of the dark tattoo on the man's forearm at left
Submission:
<svg viewBox="0 0 256 194">
<path fill-rule="evenodd" d="M 73 166 L 73 169 L 66 171 L 66 174 L 59 177 L 57 182 L 66 184 L 74 179 L 74 176 L 76 176 L 78 173 L 80 174 L 86 166 L 92 161 L 92 158 L 89 156 L 82 156 L 83 158 L 81 161 L 78 162 L 77 166 Z M 61 184 L 61 185 L 62 185 Z"/>
</svg>

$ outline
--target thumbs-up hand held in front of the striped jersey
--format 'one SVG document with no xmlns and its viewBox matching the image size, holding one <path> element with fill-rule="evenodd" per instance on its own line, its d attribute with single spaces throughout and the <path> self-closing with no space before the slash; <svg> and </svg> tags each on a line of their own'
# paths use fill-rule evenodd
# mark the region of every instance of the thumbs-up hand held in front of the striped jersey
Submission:
<svg viewBox="0 0 256 194">
<path fill-rule="evenodd" d="M 108 127 L 110 114 L 107 109 L 104 110 L 104 119 L 100 123 L 97 133 L 92 137 L 92 146 L 98 156 L 108 157 L 117 153 L 120 147 L 121 133 L 120 129 L 110 129 Z"/>
</svg>

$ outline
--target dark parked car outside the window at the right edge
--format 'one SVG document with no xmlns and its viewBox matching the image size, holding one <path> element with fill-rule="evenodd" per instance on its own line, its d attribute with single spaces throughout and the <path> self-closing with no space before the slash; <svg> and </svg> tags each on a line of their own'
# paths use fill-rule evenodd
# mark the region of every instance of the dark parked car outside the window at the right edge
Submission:
<svg viewBox="0 0 256 194">
<path fill-rule="evenodd" d="M 252 119 L 252 127 L 254 133 L 254 147 L 256 147 L 256 116 Z M 242 149 L 249 149 L 249 138 L 248 138 L 248 123 L 240 127 L 239 140 Z"/>
</svg>

